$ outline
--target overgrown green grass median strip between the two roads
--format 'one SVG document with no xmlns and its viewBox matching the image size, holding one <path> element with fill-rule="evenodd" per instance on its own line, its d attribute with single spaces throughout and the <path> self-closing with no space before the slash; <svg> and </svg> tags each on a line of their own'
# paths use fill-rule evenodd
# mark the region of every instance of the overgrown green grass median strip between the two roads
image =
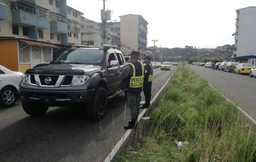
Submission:
<svg viewBox="0 0 256 162">
<path fill-rule="evenodd" d="M 179 65 L 168 88 L 119 161 L 256 161 L 254 125 L 206 79 Z"/>
</svg>

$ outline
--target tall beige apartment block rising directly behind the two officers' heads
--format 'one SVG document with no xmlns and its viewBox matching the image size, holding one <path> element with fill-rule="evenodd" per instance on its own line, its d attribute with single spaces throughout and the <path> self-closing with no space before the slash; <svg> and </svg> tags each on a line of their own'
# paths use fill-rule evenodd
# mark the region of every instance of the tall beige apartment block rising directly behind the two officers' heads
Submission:
<svg viewBox="0 0 256 162">
<path fill-rule="evenodd" d="M 120 17 L 121 51 L 128 55 L 131 51 L 140 52 L 140 57 L 147 54 L 148 22 L 141 16 L 128 14 Z"/>
</svg>

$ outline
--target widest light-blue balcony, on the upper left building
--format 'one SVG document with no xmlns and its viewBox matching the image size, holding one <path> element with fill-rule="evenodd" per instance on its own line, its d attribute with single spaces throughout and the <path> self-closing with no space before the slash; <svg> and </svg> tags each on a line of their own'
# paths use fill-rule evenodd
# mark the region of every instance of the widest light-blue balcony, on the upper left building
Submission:
<svg viewBox="0 0 256 162">
<path fill-rule="evenodd" d="M 12 21 L 26 26 L 37 26 L 40 29 L 50 29 L 50 20 L 46 19 L 45 15 L 37 16 L 19 9 L 12 11 Z"/>
</svg>

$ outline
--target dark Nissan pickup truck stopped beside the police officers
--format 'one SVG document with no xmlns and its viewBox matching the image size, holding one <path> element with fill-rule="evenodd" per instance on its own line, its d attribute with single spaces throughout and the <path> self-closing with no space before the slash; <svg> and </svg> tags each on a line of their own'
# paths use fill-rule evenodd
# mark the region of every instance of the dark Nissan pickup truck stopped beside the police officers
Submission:
<svg viewBox="0 0 256 162">
<path fill-rule="evenodd" d="M 108 99 L 126 92 L 119 88 L 119 74 L 126 66 L 122 52 L 116 46 L 85 47 L 89 46 L 75 45 L 51 63 L 25 72 L 20 98 L 27 114 L 43 115 L 48 107 L 84 106 L 90 119 L 100 120 Z"/>
</svg>

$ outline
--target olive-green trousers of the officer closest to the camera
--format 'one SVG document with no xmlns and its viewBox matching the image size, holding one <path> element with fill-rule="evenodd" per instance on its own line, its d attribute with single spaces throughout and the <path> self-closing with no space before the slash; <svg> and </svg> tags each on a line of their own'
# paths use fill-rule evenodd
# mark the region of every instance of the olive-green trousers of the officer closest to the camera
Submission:
<svg viewBox="0 0 256 162">
<path fill-rule="evenodd" d="M 129 103 L 131 118 L 136 120 L 140 111 L 140 93 L 130 93 L 127 91 L 127 101 Z"/>
</svg>

